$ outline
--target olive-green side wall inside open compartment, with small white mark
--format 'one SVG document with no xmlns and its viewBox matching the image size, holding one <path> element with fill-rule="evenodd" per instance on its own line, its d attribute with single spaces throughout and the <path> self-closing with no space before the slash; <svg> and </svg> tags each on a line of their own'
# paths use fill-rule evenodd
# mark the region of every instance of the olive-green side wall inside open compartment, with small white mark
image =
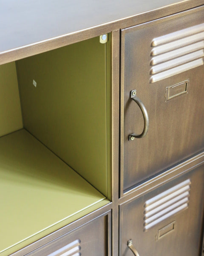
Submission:
<svg viewBox="0 0 204 256">
<path fill-rule="evenodd" d="M 17 61 L 24 127 L 106 196 L 107 47 L 97 37 Z"/>
</svg>

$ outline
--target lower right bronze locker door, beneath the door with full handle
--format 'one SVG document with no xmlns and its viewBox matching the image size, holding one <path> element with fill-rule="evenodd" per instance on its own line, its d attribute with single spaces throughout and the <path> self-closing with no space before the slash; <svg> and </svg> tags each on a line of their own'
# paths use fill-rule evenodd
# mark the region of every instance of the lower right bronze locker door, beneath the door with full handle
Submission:
<svg viewBox="0 0 204 256">
<path fill-rule="evenodd" d="M 200 166 L 122 204 L 120 256 L 200 255 L 203 180 L 204 166 Z"/>
</svg>

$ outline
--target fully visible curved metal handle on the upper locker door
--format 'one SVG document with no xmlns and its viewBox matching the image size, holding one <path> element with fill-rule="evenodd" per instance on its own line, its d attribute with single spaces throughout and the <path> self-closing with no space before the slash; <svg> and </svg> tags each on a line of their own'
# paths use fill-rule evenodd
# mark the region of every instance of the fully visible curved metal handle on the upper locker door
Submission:
<svg viewBox="0 0 204 256">
<path fill-rule="evenodd" d="M 139 108 L 142 111 L 142 115 L 143 115 L 143 118 L 144 118 L 144 129 L 143 129 L 142 133 L 141 134 L 130 134 L 129 135 L 129 140 L 131 141 L 131 140 L 134 140 L 134 138 L 142 138 L 147 134 L 147 131 L 149 129 L 149 116 L 148 116 L 146 108 L 144 107 L 144 104 L 136 96 L 136 90 L 132 90 L 130 92 L 130 98 L 133 99 L 133 101 L 137 103 L 137 105 L 139 106 Z"/>
</svg>

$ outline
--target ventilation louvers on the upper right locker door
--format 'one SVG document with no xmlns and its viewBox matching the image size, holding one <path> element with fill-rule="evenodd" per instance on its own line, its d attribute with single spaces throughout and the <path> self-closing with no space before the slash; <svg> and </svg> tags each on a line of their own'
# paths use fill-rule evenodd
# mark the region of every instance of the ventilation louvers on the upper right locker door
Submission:
<svg viewBox="0 0 204 256">
<path fill-rule="evenodd" d="M 150 83 L 204 64 L 204 23 L 154 38 Z"/>
</svg>

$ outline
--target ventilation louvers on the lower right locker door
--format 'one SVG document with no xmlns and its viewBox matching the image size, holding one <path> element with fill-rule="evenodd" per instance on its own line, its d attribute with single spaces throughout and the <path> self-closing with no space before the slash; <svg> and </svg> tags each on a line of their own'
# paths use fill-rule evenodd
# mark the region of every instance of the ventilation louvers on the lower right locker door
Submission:
<svg viewBox="0 0 204 256">
<path fill-rule="evenodd" d="M 190 180 L 150 198 L 144 204 L 144 231 L 188 208 Z"/>
</svg>

